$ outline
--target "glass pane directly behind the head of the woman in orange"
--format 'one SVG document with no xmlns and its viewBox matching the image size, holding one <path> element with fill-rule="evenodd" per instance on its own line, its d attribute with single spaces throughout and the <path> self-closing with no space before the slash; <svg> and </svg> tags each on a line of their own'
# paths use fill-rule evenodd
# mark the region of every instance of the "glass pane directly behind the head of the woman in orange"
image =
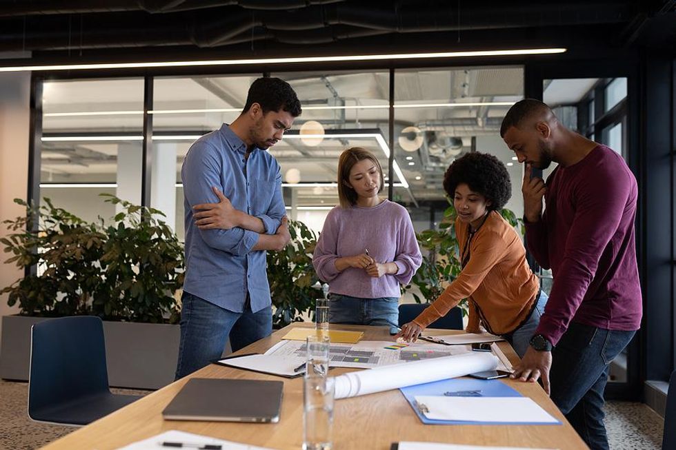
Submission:
<svg viewBox="0 0 676 450">
<path fill-rule="evenodd" d="M 455 158 L 473 151 L 493 154 L 508 166 L 513 196 L 507 207 L 521 214 L 519 165 L 499 130 L 504 114 L 523 96 L 521 67 L 395 72 L 395 161 L 409 184 L 397 187 L 395 200 L 419 218 L 416 231 L 435 227 L 448 206 L 444 173 Z"/>
</svg>

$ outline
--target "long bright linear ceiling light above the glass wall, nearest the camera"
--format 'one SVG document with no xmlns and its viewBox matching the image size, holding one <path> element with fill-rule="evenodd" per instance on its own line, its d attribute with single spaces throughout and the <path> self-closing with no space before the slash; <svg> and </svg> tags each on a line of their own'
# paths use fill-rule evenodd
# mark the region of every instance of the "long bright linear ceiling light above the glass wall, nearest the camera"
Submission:
<svg viewBox="0 0 676 450">
<path fill-rule="evenodd" d="M 342 61 L 396 61 L 401 59 L 437 59 L 469 57 L 509 57 L 533 54 L 555 54 L 566 52 L 566 48 L 521 48 L 515 50 L 480 50 L 468 52 L 435 53 L 398 53 L 398 54 L 352 54 L 332 57 L 288 57 L 256 59 L 217 59 L 212 61 L 157 61 L 141 63 L 92 63 L 92 64 L 54 64 L 54 65 L 17 65 L 0 67 L 0 72 L 26 72 L 29 70 L 92 70 L 92 69 L 129 69 L 129 68 L 168 68 L 195 67 L 210 65 L 270 65 L 289 63 L 324 63 Z"/>
</svg>

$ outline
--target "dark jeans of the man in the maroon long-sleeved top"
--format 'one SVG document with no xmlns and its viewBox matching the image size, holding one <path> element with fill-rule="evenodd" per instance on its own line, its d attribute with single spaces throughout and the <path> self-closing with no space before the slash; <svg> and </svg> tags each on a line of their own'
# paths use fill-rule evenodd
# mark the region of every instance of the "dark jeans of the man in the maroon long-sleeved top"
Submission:
<svg viewBox="0 0 676 450">
<path fill-rule="evenodd" d="M 608 367 L 635 332 L 572 322 L 553 349 L 551 398 L 592 450 L 608 449 L 603 411 Z"/>
</svg>

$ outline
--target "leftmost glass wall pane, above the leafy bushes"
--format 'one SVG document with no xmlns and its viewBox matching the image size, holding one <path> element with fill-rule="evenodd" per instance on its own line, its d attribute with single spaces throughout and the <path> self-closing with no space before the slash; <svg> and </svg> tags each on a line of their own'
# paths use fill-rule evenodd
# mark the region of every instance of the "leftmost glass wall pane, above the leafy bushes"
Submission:
<svg viewBox="0 0 676 450">
<path fill-rule="evenodd" d="M 141 202 L 143 79 L 43 84 L 40 189 L 86 220 L 110 218 L 102 192 Z"/>
</svg>

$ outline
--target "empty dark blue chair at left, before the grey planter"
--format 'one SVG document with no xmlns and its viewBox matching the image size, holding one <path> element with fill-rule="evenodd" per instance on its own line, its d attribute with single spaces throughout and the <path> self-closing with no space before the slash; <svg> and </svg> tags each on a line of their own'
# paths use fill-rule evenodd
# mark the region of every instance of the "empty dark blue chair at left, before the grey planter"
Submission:
<svg viewBox="0 0 676 450">
<path fill-rule="evenodd" d="M 110 392 L 100 318 L 54 318 L 32 326 L 28 378 L 32 420 L 87 425 L 137 398 Z"/>
</svg>

